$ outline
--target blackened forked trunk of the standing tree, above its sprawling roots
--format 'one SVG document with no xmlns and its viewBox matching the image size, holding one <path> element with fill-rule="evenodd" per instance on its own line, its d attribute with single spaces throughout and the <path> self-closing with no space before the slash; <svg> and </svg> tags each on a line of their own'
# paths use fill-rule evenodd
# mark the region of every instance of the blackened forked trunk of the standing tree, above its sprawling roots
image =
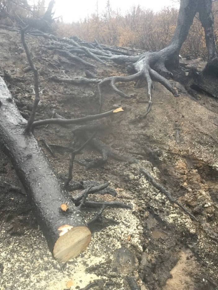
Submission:
<svg viewBox="0 0 218 290">
<path fill-rule="evenodd" d="M 194 85 L 195 87 L 198 87 L 200 91 L 218 97 L 218 56 L 215 45 L 214 19 L 212 15 L 211 0 L 181 0 L 175 34 L 170 46 L 164 49 L 171 50 L 165 64 L 169 69 L 178 68 L 179 51 L 188 36 L 188 30 L 193 23 L 193 18 L 197 12 L 199 13 L 199 19 L 205 32 L 208 61 L 201 74 L 194 72 L 190 74 L 191 80 L 189 81 L 189 85 Z"/>
</svg>

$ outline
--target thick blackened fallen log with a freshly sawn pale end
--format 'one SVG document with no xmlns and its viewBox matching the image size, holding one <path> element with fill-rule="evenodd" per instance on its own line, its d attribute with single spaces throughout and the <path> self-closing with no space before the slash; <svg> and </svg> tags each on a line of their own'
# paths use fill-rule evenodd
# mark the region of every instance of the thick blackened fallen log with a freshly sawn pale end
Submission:
<svg viewBox="0 0 218 290">
<path fill-rule="evenodd" d="M 24 133 L 26 124 L 0 77 L 0 148 L 11 159 L 54 258 L 66 262 L 87 247 L 91 232 L 61 189 L 33 134 Z M 66 211 L 60 208 L 64 203 Z"/>
</svg>

